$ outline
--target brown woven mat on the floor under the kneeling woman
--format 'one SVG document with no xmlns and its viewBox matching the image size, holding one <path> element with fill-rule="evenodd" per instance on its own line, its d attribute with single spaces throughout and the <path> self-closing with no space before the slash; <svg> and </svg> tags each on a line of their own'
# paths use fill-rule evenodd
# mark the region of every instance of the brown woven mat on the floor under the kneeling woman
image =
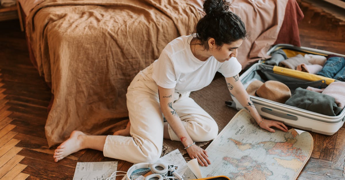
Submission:
<svg viewBox="0 0 345 180">
<path fill-rule="evenodd" d="M 225 78 L 219 76 L 219 74 L 209 86 L 199 91 L 192 92 L 190 97 L 216 120 L 218 124 L 218 133 L 238 112 L 226 106 L 225 101 L 230 100 L 231 97 L 226 86 Z M 208 145 L 209 142 L 211 141 L 197 142 L 196 144 L 205 149 L 207 147 L 205 145 Z M 181 142 L 164 139 L 162 156 L 175 149 L 179 149 L 182 155 L 187 153 Z"/>
</svg>

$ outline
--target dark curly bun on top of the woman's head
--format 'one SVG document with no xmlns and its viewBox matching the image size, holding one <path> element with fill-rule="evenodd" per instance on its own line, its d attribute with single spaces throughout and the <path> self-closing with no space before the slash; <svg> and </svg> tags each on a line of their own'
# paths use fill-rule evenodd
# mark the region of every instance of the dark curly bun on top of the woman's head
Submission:
<svg viewBox="0 0 345 180">
<path fill-rule="evenodd" d="M 229 6 L 226 0 L 205 0 L 204 11 L 208 16 L 219 17 L 228 12 Z"/>
</svg>

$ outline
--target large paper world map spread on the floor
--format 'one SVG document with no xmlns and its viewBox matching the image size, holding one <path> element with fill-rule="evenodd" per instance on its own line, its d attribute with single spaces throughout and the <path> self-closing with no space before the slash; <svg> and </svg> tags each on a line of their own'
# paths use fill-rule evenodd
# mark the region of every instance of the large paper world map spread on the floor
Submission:
<svg viewBox="0 0 345 180">
<path fill-rule="evenodd" d="M 235 179 L 296 179 L 313 150 L 310 133 L 261 129 L 245 111 L 236 116 L 208 146 L 211 164 L 200 167 L 204 177 Z"/>
</svg>

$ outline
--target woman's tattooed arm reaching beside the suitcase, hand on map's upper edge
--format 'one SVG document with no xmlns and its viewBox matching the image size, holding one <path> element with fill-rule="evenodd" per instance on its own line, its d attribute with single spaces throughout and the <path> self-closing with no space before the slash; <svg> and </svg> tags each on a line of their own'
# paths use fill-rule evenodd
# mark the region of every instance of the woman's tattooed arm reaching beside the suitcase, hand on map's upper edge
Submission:
<svg viewBox="0 0 345 180">
<path fill-rule="evenodd" d="M 244 89 L 243 84 L 239 80 L 238 74 L 234 77 L 225 78 L 226 84 L 231 94 L 241 103 L 241 105 L 249 111 L 250 115 L 255 119 L 259 126 L 266 129 L 269 132 L 275 132 L 274 129 L 270 127 L 276 127 L 282 131 L 287 131 L 287 127 L 279 121 L 272 121 L 263 119 L 258 111 L 255 109 L 253 101 L 250 99 L 247 91 Z"/>
</svg>

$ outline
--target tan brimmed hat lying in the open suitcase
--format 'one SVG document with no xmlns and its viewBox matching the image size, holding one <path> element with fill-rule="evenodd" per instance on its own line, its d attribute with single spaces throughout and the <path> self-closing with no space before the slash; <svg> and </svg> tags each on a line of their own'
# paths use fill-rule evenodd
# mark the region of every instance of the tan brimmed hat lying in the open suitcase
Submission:
<svg viewBox="0 0 345 180">
<path fill-rule="evenodd" d="M 290 89 L 284 83 L 279 81 L 270 80 L 263 83 L 259 80 L 255 80 L 249 84 L 246 91 L 249 95 L 283 104 L 286 100 L 291 98 Z"/>
</svg>

